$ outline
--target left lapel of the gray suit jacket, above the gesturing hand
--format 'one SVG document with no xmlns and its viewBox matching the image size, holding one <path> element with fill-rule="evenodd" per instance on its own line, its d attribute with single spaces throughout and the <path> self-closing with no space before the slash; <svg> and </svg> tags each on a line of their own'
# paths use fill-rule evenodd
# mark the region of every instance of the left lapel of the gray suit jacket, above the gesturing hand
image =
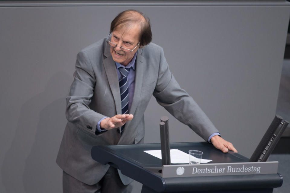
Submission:
<svg viewBox="0 0 290 193">
<path fill-rule="evenodd" d="M 117 74 L 115 62 L 112 59 L 112 56 L 110 53 L 110 46 L 107 44 L 105 45 L 104 55 L 106 58 L 103 60 L 103 65 L 107 74 L 111 92 L 113 93 L 113 97 L 114 97 L 114 101 L 116 105 L 116 112 L 117 114 L 121 114 L 122 108 L 121 108 L 121 96 L 120 96 L 118 74 Z"/>
</svg>

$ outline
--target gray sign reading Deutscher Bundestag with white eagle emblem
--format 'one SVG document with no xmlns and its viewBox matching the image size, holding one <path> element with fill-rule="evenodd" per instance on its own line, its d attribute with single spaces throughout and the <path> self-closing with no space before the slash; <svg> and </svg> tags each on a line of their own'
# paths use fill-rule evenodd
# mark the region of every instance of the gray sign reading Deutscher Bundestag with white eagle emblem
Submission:
<svg viewBox="0 0 290 193">
<path fill-rule="evenodd" d="M 183 164 L 164 165 L 162 167 L 162 177 L 275 174 L 277 171 L 278 162 Z"/>
</svg>

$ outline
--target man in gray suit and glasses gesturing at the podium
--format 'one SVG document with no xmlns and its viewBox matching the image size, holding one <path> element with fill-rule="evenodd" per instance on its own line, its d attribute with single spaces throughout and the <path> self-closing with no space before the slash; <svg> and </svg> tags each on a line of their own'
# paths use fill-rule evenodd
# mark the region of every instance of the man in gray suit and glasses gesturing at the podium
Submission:
<svg viewBox="0 0 290 193">
<path fill-rule="evenodd" d="M 179 87 L 163 49 L 153 43 L 149 19 L 127 10 L 111 22 L 108 38 L 77 55 L 67 100 L 68 123 L 56 159 L 63 192 L 130 192 L 131 179 L 91 158 L 95 145 L 138 144 L 153 94 L 176 119 L 226 153 L 237 150 L 219 136 L 192 97 Z"/>
</svg>

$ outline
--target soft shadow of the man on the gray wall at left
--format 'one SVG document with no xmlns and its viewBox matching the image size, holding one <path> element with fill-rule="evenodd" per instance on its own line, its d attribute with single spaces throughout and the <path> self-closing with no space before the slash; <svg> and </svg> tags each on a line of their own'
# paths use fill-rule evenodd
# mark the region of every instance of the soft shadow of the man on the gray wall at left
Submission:
<svg viewBox="0 0 290 193">
<path fill-rule="evenodd" d="M 1 168 L 7 192 L 61 192 L 61 169 L 55 163 L 66 124 L 65 97 L 71 76 L 58 72 L 45 90 L 25 102 L 17 130 Z"/>
</svg>

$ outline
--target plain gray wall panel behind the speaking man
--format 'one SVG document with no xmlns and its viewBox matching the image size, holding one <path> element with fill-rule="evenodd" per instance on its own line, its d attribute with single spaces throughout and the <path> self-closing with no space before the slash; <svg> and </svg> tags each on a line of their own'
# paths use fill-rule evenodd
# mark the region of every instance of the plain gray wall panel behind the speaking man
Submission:
<svg viewBox="0 0 290 193">
<path fill-rule="evenodd" d="M 76 3 L 0 3 L 0 192 L 61 192 L 55 159 L 76 54 L 107 36 L 111 20 L 129 8 L 150 17 L 153 42 L 181 87 L 250 157 L 276 112 L 285 1 Z M 202 141 L 152 98 L 145 143 L 159 143 L 164 115 L 171 142 Z"/>
</svg>

